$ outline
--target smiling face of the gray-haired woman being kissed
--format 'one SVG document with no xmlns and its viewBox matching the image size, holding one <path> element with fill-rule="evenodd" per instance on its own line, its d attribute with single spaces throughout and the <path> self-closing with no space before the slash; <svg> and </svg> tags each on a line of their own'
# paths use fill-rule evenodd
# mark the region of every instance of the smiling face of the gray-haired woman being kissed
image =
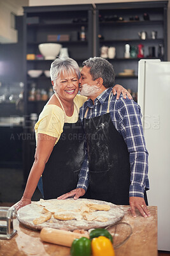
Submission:
<svg viewBox="0 0 170 256">
<path fill-rule="evenodd" d="M 54 88 L 61 99 L 73 100 L 78 93 L 78 76 L 76 72 L 62 72 L 59 78 L 55 80 Z"/>
</svg>

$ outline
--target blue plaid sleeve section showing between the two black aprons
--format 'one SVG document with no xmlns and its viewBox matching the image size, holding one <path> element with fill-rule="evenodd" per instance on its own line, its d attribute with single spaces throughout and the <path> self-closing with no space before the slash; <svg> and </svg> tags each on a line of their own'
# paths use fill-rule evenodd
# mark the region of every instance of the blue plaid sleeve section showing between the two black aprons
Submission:
<svg viewBox="0 0 170 256">
<path fill-rule="evenodd" d="M 81 170 L 78 176 L 77 188 L 83 188 L 85 189 L 85 191 L 87 191 L 88 186 L 89 186 L 89 159 L 87 156 L 87 148 L 86 148 L 85 159 L 83 161 L 83 164 L 81 166 Z"/>
</svg>

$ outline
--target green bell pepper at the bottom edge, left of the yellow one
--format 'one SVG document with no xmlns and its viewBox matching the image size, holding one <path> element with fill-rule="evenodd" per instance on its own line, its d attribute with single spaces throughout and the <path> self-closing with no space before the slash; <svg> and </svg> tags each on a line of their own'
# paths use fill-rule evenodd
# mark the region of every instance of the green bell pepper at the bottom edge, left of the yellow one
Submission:
<svg viewBox="0 0 170 256">
<path fill-rule="evenodd" d="M 90 256 L 91 253 L 91 241 L 87 237 L 81 237 L 80 239 L 74 239 L 71 244 L 70 250 L 71 256 Z"/>
</svg>

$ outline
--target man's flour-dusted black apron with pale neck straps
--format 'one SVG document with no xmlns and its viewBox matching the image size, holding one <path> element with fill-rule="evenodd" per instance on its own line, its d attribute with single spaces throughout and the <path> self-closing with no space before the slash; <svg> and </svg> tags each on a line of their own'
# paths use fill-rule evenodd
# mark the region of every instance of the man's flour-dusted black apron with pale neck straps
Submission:
<svg viewBox="0 0 170 256">
<path fill-rule="evenodd" d="M 129 205 L 129 152 L 111 121 L 109 107 L 110 97 L 106 114 L 87 119 L 87 109 L 83 118 L 89 155 L 87 198 Z"/>
</svg>

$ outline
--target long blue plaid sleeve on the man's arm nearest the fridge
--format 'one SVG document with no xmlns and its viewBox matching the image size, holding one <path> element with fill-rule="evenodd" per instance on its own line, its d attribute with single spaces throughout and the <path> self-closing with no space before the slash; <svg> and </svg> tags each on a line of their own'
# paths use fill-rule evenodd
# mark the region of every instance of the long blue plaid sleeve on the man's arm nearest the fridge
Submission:
<svg viewBox="0 0 170 256">
<path fill-rule="evenodd" d="M 120 101 L 117 112 L 119 128 L 127 144 L 131 164 L 129 196 L 144 197 L 145 189 L 149 189 L 148 151 L 143 135 L 140 107 L 133 100 L 122 98 Z"/>
</svg>

